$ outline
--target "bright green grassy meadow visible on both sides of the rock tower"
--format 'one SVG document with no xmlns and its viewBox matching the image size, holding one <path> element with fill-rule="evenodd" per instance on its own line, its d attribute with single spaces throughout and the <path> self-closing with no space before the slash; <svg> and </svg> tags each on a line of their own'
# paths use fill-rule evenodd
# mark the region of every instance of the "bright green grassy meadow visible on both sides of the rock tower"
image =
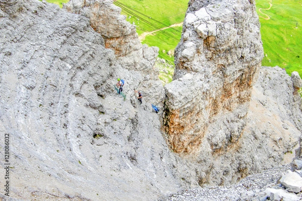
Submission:
<svg viewBox="0 0 302 201">
<path fill-rule="evenodd" d="M 187 8 L 187 1 L 177 2 L 179 5 L 177 12 L 174 9 L 175 7 L 169 8 L 169 4 L 171 4 L 170 1 L 119 1 L 126 5 L 131 5 L 131 8 L 138 10 L 147 16 L 155 18 L 167 25 L 181 22 L 184 18 L 184 14 L 182 14 L 182 12 L 185 12 Z M 158 7 L 159 2 L 161 2 L 161 7 Z M 302 15 L 300 15 L 302 3 L 300 0 L 274 0 L 272 4 L 273 6 L 270 10 L 262 10 L 264 14 L 267 14 L 270 17 L 270 20 L 265 20 L 261 17 L 259 18 L 261 23 L 263 48 L 266 55 L 262 64 L 266 66 L 278 65 L 282 68 L 285 68 L 288 74 L 290 74 L 292 71 L 298 71 L 302 77 L 302 37 L 300 37 L 302 35 L 302 27 L 300 27 L 302 26 Z M 256 0 L 256 7 L 258 15 L 265 17 L 259 12 L 258 9 L 269 8 L 269 0 Z M 171 20 L 170 16 L 173 17 L 176 14 L 178 14 L 178 18 L 175 21 Z M 128 20 L 137 25 L 138 34 L 152 31 L 152 28 L 139 23 L 139 21 L 135 18 L 130 18 Z M 181 28 L 179 28 L 179 30 L 181 30 Z M 167 31 L 171 34 L 174 34 L 175 37 L 180 37 L 180 34 L 175 33 L 173 30 Z M 169 39 L 169 37 L 157 32 L 152 36 L 147 36 L 142 42 L 148 44 L 149 46 L 158 46 L 160 48 L 159 57 L 173 62 L 174 58 L 169 57 L 162 51 L 165 50 L 168 52 L 169 50 L 174 50 L 178 43 L 177 41 Z"/>
</svg>

